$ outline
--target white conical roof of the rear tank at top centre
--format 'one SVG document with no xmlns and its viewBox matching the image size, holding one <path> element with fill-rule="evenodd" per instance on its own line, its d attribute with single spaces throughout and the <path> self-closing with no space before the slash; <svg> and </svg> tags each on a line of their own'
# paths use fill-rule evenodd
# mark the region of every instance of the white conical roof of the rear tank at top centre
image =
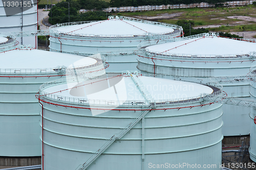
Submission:
<svg viewBox="0 0 256 170">
<path fill-rule="evenodd" d="M 87 35 L 143 35 L 146 33 L 166 34 L 174 32 L 174 29 L 170 27 L 156 26 L 125 19 L 102 20 L 82 25 L 59 27 L 54 30 Z"/>
</svg>

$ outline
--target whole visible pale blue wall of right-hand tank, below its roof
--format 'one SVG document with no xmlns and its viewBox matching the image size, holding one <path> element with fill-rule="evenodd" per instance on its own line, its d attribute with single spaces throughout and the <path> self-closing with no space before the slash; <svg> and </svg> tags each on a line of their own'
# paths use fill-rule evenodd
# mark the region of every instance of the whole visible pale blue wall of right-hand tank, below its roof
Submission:
<svg viewBox="0 0 256 170">
<path fill-rule="evenodd" d="M 249 43 L 249 42 L 248 42 Z M 185 54 L 186 55 L 186 54 Z M 142 57 L 140 57 L 142 56 Z M 193 59 L 192 57 L 158 57 L 152 61 L 152 55 L 139 54 L 137 68 L 142 72 L 164 74 L 173 76 L 187 76 L 198 78 L 228 77 L 247 75 L 253 65 L 254 58 L 247 59 Z M 162 60 L 161 60 L 162 59 Z M 172 60 L 172 61 L 165 61 Z M 220 61 L 217 62 L 216 60 Z M 229 62 L 231 61 L 231 62 Z M 224 78 L 225 79 L 225 78 Z M 223 91 L 228 96 L 250 99 L 249 82 L 223 83 Z M 223 105 L 223 135 L 236 136 L 250 133 L 250 119 L 248 115 L 251 109 L 242 106 Z"/>
</svg>

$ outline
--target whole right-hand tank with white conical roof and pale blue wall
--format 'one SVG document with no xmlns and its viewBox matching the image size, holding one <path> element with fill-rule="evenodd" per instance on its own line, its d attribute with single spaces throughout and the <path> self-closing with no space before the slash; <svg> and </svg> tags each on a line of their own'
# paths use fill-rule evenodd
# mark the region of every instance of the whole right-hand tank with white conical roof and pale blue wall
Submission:
<svg viewBox="0 0 256 170">
<path fill-rule="evenodd" d="M 255 55 L 251 52 L 255 50 L 255 40 L 239 41 L 210 33 L 180 38 L 176 42 L 156 42 L 140 45 L 139 70 L 202 79 L 218 77 L 228 96 L 250 98 L 249 81 L 239 76 L 245 77 L 254 64 Z M 250 108 L 224 105 L 223 112 L 224 136 L 250 133 Z"/>
</svg>

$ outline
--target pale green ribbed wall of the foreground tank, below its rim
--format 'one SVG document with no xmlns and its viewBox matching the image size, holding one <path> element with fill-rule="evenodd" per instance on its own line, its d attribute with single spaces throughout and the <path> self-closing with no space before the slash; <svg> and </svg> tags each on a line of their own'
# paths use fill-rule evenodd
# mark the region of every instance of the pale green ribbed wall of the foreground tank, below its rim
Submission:
<svg viewBox="0 0 256 170">
<path fill-rule="evenodd" d="M 57 101 L 54 103 L 63 105 Z M 145 163 L 165 163 L 163 160 L 168 160 L 169 163 L 219 165 L 223 124 L 221 106 L 149 112 L 145 116 Z M 92 116 L 88 109 L 44 104 L 45 169 L 75 169 L 140 114 L 140 111 L 108 111 Z M 120 141 L 114 142 L 90 168 L 141 168 L 141 125 L 140 122 Z M 113 164 L 115 167 L 111 166 Z M 145 168 L 148 169 L 146 165 Z"/>
</svg>

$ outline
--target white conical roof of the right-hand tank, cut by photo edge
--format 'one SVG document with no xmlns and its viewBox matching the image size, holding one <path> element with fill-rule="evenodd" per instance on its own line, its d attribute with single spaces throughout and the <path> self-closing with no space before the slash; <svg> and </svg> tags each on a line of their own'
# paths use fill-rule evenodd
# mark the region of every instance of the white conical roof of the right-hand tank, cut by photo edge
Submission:
<svg viewBox="0 0 256 170">
<path fill-rule="evenodd" d="M 194 38 L 146 47 L 149 51 L 171 54 L 247 54 L 255 51 L 256 43 L 221 37 Z M 171 49 L 171 50 L 170 50 Z"/>
</svg>

